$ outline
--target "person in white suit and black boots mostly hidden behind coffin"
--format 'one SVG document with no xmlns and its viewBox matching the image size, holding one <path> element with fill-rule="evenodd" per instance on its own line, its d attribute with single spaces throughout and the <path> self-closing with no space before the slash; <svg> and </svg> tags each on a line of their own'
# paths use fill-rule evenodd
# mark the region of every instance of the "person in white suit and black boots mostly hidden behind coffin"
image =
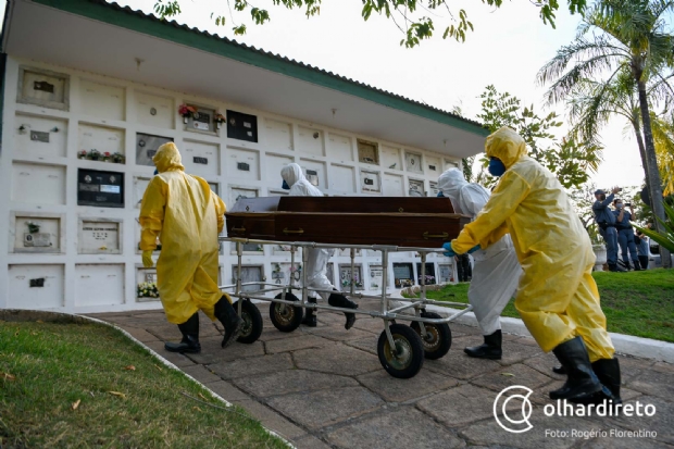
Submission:
<svg viewBox="0 0 674 449">
<path fill-rule="evenodd" d="M 298 164 L 292 163 L 285 165 L 280 170 L 280 177 L 283 177 L 284 182 L 283 187 L 290 190 L 288 195 L 291 197 L 323 197 L 323 192 L 307 180 L 307 177 L 304 177 L 302 173 L 302 167 Z M 304 270 L 307 270 L 307 287 L 317 290 L 337 291 L 335 286 L 333 286 L 327 278 L 327 261 L 333 255 L 334 250 L 322 248 L 305 248 L 304 250 L 308 251 L 309 255 L 307 266 L 304 267 Z M 358 309 L 355 302 L 350 301 L 347 297 L 338 292 L 327 294 L 323 291 L 320 292 L 320 295 L 333 307 Z M 309 302 L 315 303 L 316 298 L 310 297 Z M 347 319 L 345 328 L 348 330 L 355 322 L 355 314 L 345 312 L 345 315 Z M 304 317 L 302 319 L 302 324 L 310 327 L 316 326 L 316 314 L 313 310 L 307 309 Z"/>
</svg>

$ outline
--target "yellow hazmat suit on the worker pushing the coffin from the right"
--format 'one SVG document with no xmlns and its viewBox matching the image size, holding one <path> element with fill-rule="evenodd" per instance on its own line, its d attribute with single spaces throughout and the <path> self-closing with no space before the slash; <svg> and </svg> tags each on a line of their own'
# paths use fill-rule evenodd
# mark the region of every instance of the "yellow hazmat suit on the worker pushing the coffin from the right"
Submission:
<svg viewBox="0 0 674 449">
<path fill-rule="evenodd" d="M 488 157 L 506 173 L 474 222 L 451 246 L 458 254 L 483 248 L 510 232 L 524 273 L 515 308 L 540 348 L 548 352 L 581 336 L 591 362 L 613 357 L 607 320 L 592 278 L 589 237 L 559 180 L 526 155 L 526 145 L 502 127 L 487 137 Z"/>
</svg>

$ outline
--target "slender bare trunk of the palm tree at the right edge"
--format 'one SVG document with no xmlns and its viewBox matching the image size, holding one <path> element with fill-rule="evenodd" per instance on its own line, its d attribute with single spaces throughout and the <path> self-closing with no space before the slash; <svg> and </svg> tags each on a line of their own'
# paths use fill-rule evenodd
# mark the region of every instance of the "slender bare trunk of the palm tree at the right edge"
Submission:
<svg viewBox="0 0 674 449">
<path fill-rule="evenodd" d="M 646 155 L 646 183 L 648 184 L 648 190 L 651 198 L 651 209 L 656 219 L 662 220 L 664 223 L 664 207 L 662 197 L 662 180 L 660 179 L 660 172 L 658 171 L 658 159 L 656 158 L 656 144 L 653 142 L 653 132 L 650 124 L 650 113 L 648 111 L 648 98 L 646 96 L 646 83 L 638 79 L 639 87 L 639 107 L 641 109 L 641 122 L 644 123 L 644 140 L 645 148 L 644 153 Z M 656 230 L 660 234 L 664 234 L 664 226 L 659 220 L 656 220 L 653 225 Z M 672 260 L 670 258 L 670 251 L 660 246 L 660 258 L 662 260 L 663 269 L 672 267 Z"/>
</svg>

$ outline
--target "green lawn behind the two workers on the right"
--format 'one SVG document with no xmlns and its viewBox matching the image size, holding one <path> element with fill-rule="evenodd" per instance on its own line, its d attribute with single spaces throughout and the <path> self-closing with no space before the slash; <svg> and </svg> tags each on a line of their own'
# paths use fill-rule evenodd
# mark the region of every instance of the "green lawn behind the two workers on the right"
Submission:
<svg viewBox="0 0 674 449">
<path fill-rule="evenodd" d="M 609 332 L 674 342 L 674 270 L 595 272 L 592 276 L 599 287 Z M 426 296 L 467 302 L 469 285 L 448 285 Z M 503 316 L 520 317 L 513 302 L 508 303 Z"/>
</svg>

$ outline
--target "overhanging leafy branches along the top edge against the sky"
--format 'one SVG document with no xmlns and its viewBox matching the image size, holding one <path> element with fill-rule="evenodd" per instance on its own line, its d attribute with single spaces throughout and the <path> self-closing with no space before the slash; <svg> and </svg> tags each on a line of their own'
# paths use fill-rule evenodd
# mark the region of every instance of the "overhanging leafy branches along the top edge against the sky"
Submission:
<svg viewBox="0 0 674 449">
<path fill-rule="evenodd" d="M 180 3 L 187 0 L 155 0 L 154 12 L 162 18 L 173 17 L 180 13 Z M 244 35 L 247 32 L 246 24 L 238 24 L 234 20 L 232 9 L 237 12 L 248 12 L 250 20 L 255 25 L 263 25 L 272 20 L 269 10 L 255 7 L 248 0 L 221 0 L 227 5 L 229 21 L 233 23 L 235 35 Z M 346 0 L 339 0 L 346 1 Z M 480 0 L 482 3 L 500 8 L 503 0 Z M 587 0 L 566 0 L 569 11 L 572 14 L 583 12 Z M 289 10 L 300 10 L 307 17 L 321 13 L 323 0 L 272 0 L 274 7 L 283 7 Z M 465 41 L 466 33 L 473 32 L 473 23 L 469 21 L 465 10 L 458 11 L 450 7 L 447 0 L 361 0 L 363 8 L 361 17 L 367 21 L 373 14 L 378 14 L 390 21 L 403 34 L 400 45 L 412 48 L 424 39 L 434 36 L 436 22 L 440 22 L 442 39 L 454 39 L 458 42 Z M 556 12 L 560 4 L 558 0 L 532 1 L 538 8 L 538 14 L 544 24 L 554 27 Z M 444 16 L 442 16 L 444 15 Z M 211 13 L 211 18 L 216 25 L 227 24 L 225 14 Z"/>
</svg>

